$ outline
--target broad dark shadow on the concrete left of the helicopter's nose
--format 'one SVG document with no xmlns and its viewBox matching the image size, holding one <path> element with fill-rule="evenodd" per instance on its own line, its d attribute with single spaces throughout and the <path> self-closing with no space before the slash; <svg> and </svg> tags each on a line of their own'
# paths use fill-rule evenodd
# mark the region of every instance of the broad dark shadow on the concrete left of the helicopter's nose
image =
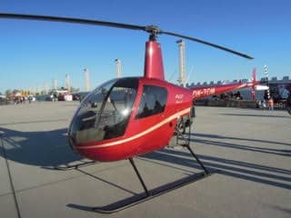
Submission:
<svg viewBox="0 0 291 218">
<path fill-rule="evenodd" d="M 55 166 L 83 160 L 67 144 L 65 128 L 22 132 L 0 127 L 0 140 L 0 155 L 16 163 L 55 169 Z"/>
</svg>

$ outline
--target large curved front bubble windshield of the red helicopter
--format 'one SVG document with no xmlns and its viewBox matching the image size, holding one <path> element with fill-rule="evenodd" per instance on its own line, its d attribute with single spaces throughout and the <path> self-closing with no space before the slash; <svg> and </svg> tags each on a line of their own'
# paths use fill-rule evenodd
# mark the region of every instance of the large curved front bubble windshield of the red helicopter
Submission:
<svg viewBox="0 0 291 218">
<path fill-rule="evenodd" d="M 137 86 L 136 78 L 115 79 L 88 94 L 69 127 L 71 143 L 84 144 L 124 135 Z"/>
</svg>

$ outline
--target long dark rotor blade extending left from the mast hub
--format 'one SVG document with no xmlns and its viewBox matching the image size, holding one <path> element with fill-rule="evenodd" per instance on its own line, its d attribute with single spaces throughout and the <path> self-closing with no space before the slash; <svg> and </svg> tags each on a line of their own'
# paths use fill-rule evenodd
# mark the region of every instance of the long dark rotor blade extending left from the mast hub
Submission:
<svg viewBox="0 0 291 218">
<path fill-rule="evenodd" d="M 109 27 L 146 31 L 146 26 L 142 26 L 142 25 L 127 25 L 127 24 L 115 23 L 115 22 L 88 20 L 88 19 L 70 18 L 70 17 L 46 16 L 46 15 L 3 14 L 3 13 L 0 13 L 0 17 L 9 18 L 9 19 L 21 19 L 21 20 L 64 22 L 64 23 L 73 23 L 73 24 L 82 24 L 82 25 L 104 25 L 104 26 L 109 26 Z"/>
</svg>

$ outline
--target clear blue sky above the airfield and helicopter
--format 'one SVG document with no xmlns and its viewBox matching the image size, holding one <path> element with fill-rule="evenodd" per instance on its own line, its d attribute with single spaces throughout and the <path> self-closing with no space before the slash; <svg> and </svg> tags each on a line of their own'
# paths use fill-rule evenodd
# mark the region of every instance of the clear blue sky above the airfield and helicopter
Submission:
<svg viewBox="0 0 291 218">
<path fill-rule="evenodd" d="M 1 13 L 61 15 L 134 25 L 158 25 L 224 45 L 255 60 L 186 41 L 189 83 L 264 76 L 291 77 L 291 2 L 277 1 L 94 1 L 0 0 Z M 147 34 L 92 25 L 0 19 L 0 92 L 52 86 L 53 79 L 84 90 L 83 69 L 91 88 L 115 77 L 115 59 L 123 76 L 142 75 Z M 166 78 L 178 78 L 178 38 L 160 35 Z"/>
</svg>

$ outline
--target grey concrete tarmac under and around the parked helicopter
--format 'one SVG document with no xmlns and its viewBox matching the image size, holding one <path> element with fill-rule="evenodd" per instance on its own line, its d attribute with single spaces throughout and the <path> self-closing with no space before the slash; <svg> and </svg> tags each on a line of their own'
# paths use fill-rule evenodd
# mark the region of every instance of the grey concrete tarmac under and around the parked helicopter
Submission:
<svg viewBox="0 0 291 218">
<path fill-rule="evenodd" d="M 211 176 L 113 214 L 90 207 L 143 192 L 128 161 L 72 171 L 66 143 L 76 102 L 0 106 L 0 217 L 291 217 L 291 116 L 196 107 L 191 146 Z M 136 157 L 149 189 L 201 172 L 185 148 Z"/>
</svg>

